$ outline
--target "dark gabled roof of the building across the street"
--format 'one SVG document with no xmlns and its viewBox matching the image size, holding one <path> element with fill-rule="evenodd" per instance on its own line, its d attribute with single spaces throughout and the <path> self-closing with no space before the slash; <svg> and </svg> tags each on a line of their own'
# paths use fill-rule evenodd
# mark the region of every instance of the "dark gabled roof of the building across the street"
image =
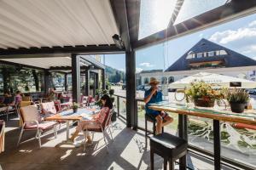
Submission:
<svg viewBox="0 0 256 170">
<path fill-rule="evenodd" d="M 204 52 L 211 52 L 217 50 L 224 50 L 227 54 L 212 56 L 212 57 L 202 57 L 195 59 L 187 59 L 188 54 L 198 54 Z M 216 60 L 224 60 L 225 67 L 239 67 L 239 66 L 251 66 L 256 65 L 256 60 L 248 58 L 245 55 L 236 53 L 235 51 L 225 48 L 217 43 L 208 41 L 202 38 L 199 42 L 195 44 L 194 47 L 190 48 L 183 56 L 177 59 L 166 71 L 189 71 L 190 63 L 200 63 L 209 62 Z"/>
</svg>

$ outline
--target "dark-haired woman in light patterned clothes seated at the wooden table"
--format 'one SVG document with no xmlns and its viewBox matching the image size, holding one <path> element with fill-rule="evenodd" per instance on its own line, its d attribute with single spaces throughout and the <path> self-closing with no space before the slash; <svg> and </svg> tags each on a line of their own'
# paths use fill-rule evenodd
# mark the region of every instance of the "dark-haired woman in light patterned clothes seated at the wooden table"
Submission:
<svg viewBox="0 0 256 170">
<path fill-rule="evenodd" d="M 110 110 L 113 108 L 113 103 L 108 96 L 108 94 L 104 94 L 101 98 L 102 101 L 102 109 L 99 113 L 94 115 L 91 120 L 83 120 L 80 121 L 78 124 L 78 127 L 76 127 L 75 133 L 73 133 L 73 136 L 71 137 L 71 142 L 74 142 L 74 139 L 79 135 L 79 132 L 86 128 L 96 128 L 96 122 L 98 123 L 104 123 L 104 121 L 107 119 L 108 114 Z M 92 144 L 92 139 L 90 135 L 87 136 L 87 143 L 89 145 Z"/>
</svg>

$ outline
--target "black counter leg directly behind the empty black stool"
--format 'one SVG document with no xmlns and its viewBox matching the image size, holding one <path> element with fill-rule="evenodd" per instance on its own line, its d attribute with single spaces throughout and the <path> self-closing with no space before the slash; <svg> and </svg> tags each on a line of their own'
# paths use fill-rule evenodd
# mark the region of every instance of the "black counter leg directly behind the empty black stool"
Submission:
<svg viewBox="0 0 256 170">
<path fill-rule="evenodd" d="M 178 115 L 178 136 L 180 138 L 188 140 L 188 126 L 187 126 L 188 116 L 187 115 Z M 179 169 L 187 169 L 187 157 L 183 156 L 179 159 Z"/>
</svg>

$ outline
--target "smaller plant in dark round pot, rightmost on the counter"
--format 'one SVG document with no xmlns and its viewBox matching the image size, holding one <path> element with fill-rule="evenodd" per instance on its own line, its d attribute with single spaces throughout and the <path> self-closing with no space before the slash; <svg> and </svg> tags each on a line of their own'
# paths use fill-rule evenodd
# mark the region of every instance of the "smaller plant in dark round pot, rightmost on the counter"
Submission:
<svg viewBox="0 0 256 170">
<path fill-rule="evenodd" d="M 228 92 L 227 99 L 230 102 L 232 112 L 242 113 L 249 100 L 249 94 L 243 89 L 235 89 Z"/>
</svg>

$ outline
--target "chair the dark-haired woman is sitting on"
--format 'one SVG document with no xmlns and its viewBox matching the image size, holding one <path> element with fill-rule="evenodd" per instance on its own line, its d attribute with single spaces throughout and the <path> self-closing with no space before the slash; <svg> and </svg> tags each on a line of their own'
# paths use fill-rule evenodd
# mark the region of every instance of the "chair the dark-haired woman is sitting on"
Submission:
<svg viewBox="0 0 256 170">
<path fill-rule="evenodd" d="M 105 117 L 105 120 L 102 123 L 91 122 L 91 125 L 93 124 L 93 126 L 87 127 L 86 129 L 84 129 L 84 151 L 86 146 L 86 139 L 89 133 L 92 133 L 92 141 L 94 138 L 94 133 L 102 133 L 104 142 L 106 144 L 106 148 L 108 150 L 108 142 L 106 139 L 106 135 L 108 134 L 108 132 L 110 133 L 110 137 L 113 140 L 113 135 L 110 129 L 112 126 L 112 122 L 111 122 L 112 115 L 113 115 L 113 109 L 109 111 L 108 116 Z"/>
</svg>

